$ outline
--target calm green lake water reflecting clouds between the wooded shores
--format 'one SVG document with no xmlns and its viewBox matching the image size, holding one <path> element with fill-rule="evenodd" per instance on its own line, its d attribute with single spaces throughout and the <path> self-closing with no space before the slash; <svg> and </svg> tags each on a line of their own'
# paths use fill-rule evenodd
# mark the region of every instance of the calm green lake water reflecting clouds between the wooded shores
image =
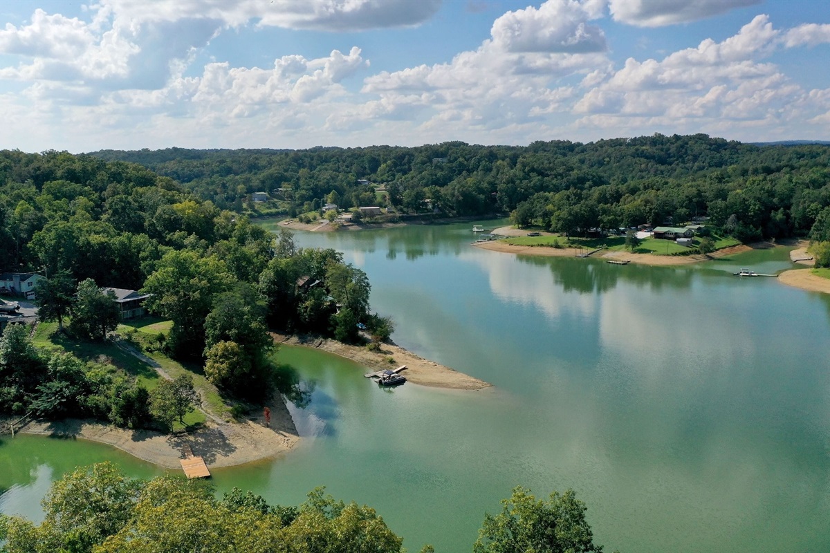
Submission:
<svg viewBox="0 0 830 553">
<path fill-rule="evenodd" d="M 495 221 L 476 221 L 488 228 Z M 472 223 L 298 233 L 364 269 L 393 339 L 493 383 L 382 390 L 364 367 L 283 347 L 311 391 L 307 439 L 214 483 L 297 503 L 325 485 L 375 507 L 409 551 L 470 551 L 511 488 L 574 488 L 608 551 L 830 551 L 830 298 L 739 279 L 784 250 L 686 267 L 531 258 L 471 247 Z M 51 478 L 98 444 L 0 445 L 0 511 L 38 517 Z"/>
</svg>

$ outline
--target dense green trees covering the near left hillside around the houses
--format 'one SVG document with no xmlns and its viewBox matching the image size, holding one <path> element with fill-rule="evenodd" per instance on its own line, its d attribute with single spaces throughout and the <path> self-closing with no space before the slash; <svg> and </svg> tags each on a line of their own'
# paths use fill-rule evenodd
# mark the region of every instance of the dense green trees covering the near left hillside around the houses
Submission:
<svg viewBox="0 0 830 553">
<path fill-rule="evenodd" d="M 203 365 L 232 398 L 277 385 L 271 328 L 348 342 L 363 339 L 358 324 L 381 340 L 392 332 L 339 252 L 295 248 L 169 177 L 85 155 L 0 152 L 0 272 L 46 276 L 34 289 L 40 320 L 81 341 L 106 340 L 120 321 L 103 287 L 149 294 L 145 306 L 172 321 L 165 351 Z M 147 422 L 133 413 L 148 397 L 134 378 L 40 351 L 29 334 L 10 324 L 0 338 L 0 413 Z"/>
</svg>

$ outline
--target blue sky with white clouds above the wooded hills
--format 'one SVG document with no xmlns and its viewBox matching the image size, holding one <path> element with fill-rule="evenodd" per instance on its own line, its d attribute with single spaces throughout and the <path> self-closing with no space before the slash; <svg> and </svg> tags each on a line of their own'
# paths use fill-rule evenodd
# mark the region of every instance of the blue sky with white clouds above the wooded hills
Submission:
<svg viewBox="0 0 830 553">
<path fill-rule="evenodd" d="M 0 2 L 0 148 L 830 139 L 824 0 Z"/>
</svg>

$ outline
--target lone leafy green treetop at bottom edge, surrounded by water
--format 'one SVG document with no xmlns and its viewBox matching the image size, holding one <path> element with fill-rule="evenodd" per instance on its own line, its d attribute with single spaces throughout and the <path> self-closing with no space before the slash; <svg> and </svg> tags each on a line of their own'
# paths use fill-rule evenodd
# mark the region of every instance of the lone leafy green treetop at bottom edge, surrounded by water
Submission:
<svg viewBox="0 0 830 553">
<path fill-rule="evenodd" d="M 602 551 L 574 490 L 553 492 L 537 501 L 530 490 L 515 488 L 502 502 L 501 512 L 484 517 L 474 553 L 588 553 Z"/>
</svg>

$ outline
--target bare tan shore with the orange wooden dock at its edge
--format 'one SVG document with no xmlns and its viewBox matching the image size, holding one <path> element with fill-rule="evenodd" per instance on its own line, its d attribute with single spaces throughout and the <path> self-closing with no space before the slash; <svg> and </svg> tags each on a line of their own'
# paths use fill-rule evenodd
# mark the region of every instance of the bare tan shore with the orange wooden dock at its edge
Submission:
<svg viewBox="0 0 830 553">
<path fill-rule="evenodd" d="M 263 415 L 259 413 L 237 423 L 208 420 L 205 427 L 188 434 L 128 430 L 75 419 L 35 421 L 22 432 L 109 444 L 148 463 L 178 470 L 182 468 L 179 459 L 184 458 L 182 448 L 189 445 L 193 454 L 204 458 L 208 467 L 231 467 L 285 454 L 300 441 L 282 397 L 276 395 L 268 406 L 271 409 L 270 427 L 266 427 Z"/>
</svg>

